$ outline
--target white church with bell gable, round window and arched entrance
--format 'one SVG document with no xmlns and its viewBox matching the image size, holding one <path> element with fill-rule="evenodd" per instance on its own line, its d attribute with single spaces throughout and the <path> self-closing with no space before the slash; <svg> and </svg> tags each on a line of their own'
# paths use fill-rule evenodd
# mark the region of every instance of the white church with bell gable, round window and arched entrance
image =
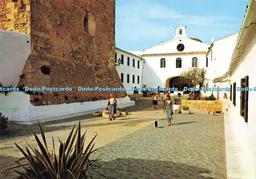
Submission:
<svg viewBox="0 0 256 179">
<path fill-rule="evenodd" d="M 193 66 L 206 68 L 209 44 L 197 38 L 188 38 L 185 26 L 176 27 L 175 38 L 139 53 L 145 59 L 143 83 L 148 87 L 178 87 L 180 73 Z"/>
</svg>

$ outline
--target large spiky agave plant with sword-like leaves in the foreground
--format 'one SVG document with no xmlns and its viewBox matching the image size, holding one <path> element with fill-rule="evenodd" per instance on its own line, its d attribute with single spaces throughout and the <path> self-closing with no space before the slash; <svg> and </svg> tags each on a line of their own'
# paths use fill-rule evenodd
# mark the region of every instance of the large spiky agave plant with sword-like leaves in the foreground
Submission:
<svg viewBox="0 0 256 179">
<path fill-rule="evenodd" d="M 96 151 L 97 149 L 93 150 L 95 143 L 93 143 L 96 136 L 91 140 L 91 142 L 87 145 L 84 149 L 84 142 L 86 139 L 86 132 L 81 136 L 81 125 L 79 122 L 78 128 L 74 132 L 74 127 L 72 128 L 68 139 L 66 142 L 62 142 L 59 140 L 59 156 L 56 155 L 54 140 L 52 137 L 53 142 L 53 150 L 50 153 L 45 133 L 41 128 L 40 123 L 38 122 L 40 131 L 41 131 L 41 142 L 36 135 L 35 140 L 39 146 L 39 150 L 36 148 L 32 148 L 29 144 L 26 147 L 26 151 L 19 147 L 17 144 L 16 147 L 23 153 L 24 157 L 16 161 L 15 163 L 18 164 L 15 167 L 9 168 L 9 170 L 14 170 L 16 173 L 19 174 L 18 178 L 46 178 L 46 179 L 73 179 L 73 178 L 87 178 L 87 171 L 92 170 L 95 171 L 94 167 L 98 167 L 93 163 L 98 161 L 96 160 L 89 160 L 89 156 Z M 76 138 L 76 140 L 75 140 Z M 44 144 L 44 145 L 43 145 Z M 20 164 L 20 161 L 27 161 L 27 164 Z M 17 171 L 16 168 L 22 167 L 25 171 Z M 9 172 L 9 171 L 8 171 Z M 8 175 L 8 172 L 6 176 Z M 104 176 L 103 174 L 99 173 L 100 175 Z M 105 176 L 104 176 L 105 177 Z"/>
</svg>

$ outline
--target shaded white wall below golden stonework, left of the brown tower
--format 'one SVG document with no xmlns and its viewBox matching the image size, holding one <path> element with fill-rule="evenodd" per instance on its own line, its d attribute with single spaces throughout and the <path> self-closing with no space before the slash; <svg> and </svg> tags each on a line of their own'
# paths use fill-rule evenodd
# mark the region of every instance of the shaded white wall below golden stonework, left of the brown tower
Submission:
<svg viewBox="0 0 256 179">
<path fill-rule="evenodd" d="M 17 85 L 29 54 L 28 34 L 0 30 L 0 82 L 4 86 Z"/>
</svg>

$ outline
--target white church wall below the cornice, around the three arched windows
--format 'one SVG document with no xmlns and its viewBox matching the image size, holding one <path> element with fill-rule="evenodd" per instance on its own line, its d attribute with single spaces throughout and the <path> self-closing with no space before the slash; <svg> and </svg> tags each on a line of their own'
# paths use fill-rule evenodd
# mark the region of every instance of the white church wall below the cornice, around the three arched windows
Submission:
<svg viewBox="0 0 256 179">
<path fill-rule="evenodd" d="M 206 69 L 205 55 L 144 57 L 146 62 L 143 71 L 143 83 L 146 83 L 148 87 L 165 87 L 165 80 L 179 76 L 180 73 L 192 67 L 193 57 L 198 58 L 198 68 Z M 161 58 L 165 58 L 165 68 L 160 68 Z M 176 68 L 177 58 L 181 58 L 182 68 Z"/>
</svg>

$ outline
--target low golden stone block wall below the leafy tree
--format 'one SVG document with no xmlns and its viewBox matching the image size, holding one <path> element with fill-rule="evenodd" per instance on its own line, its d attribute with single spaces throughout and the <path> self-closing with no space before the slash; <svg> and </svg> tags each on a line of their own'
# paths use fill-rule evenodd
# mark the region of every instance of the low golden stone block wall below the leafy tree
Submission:
<svg viewBox="0 0 256 179">
<path fill-rule="evenodd" d="M 198 109 L 198 110 L 214 110 L 223 112 L 222 101 L 221 100 L 181 100 L 181 105 L 185 105 L 189 110 Z"/>
</svg>

